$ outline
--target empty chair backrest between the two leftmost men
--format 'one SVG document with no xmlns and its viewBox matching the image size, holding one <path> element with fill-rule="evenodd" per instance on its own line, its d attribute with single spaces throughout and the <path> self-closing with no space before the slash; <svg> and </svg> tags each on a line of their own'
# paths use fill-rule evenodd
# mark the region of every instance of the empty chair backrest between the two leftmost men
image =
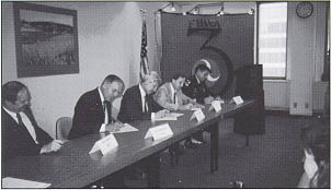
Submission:
<svg viewBox="0 0 331 190">
<path fill-rule="evenodd" d="M 72 118 L 60 117 L 56 121 L 56 139 L 57 140 L 68 140 L 68 134 L 71 130 Z"/>
</svg>

